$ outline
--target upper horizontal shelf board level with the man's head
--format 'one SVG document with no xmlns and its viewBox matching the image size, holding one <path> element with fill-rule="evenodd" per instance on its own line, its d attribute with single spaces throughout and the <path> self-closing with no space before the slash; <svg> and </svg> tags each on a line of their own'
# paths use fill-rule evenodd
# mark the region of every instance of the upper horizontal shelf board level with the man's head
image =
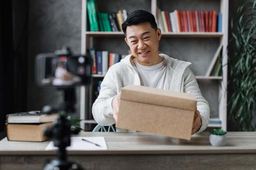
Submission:
<svg viewBox="0 0 256 170">
<path fill-rule="evenodd" d="M 107 31 L 87 31 L 85 34 L 89 37 L 124 37 L 124 33 L 119 32 L 107 32 Z M 191 33 L 191 32 L 182 32 L 182 33 L 162 33 L 162 38 L 169 37 L 180 37 L 180 38 L 221 38 L 223 33 Z"/>
</svg>

